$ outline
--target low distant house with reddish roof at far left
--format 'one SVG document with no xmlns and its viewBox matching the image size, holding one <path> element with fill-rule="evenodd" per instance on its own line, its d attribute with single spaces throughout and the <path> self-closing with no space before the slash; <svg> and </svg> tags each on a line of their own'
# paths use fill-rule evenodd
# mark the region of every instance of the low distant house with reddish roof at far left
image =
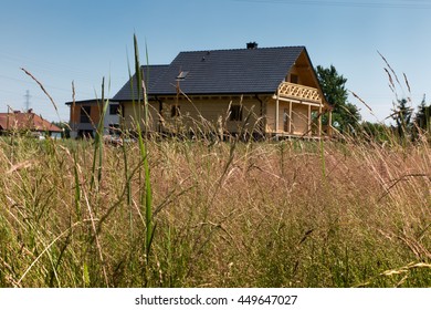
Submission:
<svg viewBox="0 0 431 310">
<path fill-rule="evenodd" d="M 1 135 L 29 132 L 38 137 L 61 137 L 62 130 L 34 114 L 32 110 L 28 112 L 0 113 Z"/>
</svg>

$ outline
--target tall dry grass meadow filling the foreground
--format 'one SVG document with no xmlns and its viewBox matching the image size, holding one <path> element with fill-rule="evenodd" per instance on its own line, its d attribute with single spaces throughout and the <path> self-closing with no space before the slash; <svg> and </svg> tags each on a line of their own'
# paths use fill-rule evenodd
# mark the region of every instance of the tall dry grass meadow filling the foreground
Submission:
<svg viewBox="0 0 431 310">
<path fill-rule="evenodd" d="M 0 140 L 0 287 L 431 286 L 427 141 L 143 142 Z"/>
</svg>

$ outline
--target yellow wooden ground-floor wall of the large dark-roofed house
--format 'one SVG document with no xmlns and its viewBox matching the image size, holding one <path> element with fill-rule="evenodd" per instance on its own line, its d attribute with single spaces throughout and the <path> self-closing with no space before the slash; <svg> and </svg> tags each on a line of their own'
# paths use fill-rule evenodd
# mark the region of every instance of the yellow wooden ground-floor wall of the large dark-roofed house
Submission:
<svg viewBox="0 0 431 310">
<path fill-rule="evenodd" d="M 263 103 L 255 97 L 244 97 L 242 101 L 239 96 L 199 96 L 192 97 L 190 101 L 181 99 L 177 102 L 176 97 L 164 97 L 162 110 L 159 113 L 160 103 L 150 101 L 149 103 L 149 124 L 150 131 L 162 132 L 197 132 L 197 131 L 217 131 L 220 133 L 238 133 L 245 120 L 246 115 L 251 113 L 251 117 L 245 125 L 245 131 L 249 133 L 261 132 L 259 127 L 259 120 L 262 121 L 264 132 L 262 134 L 285 133 L 294 135 L 304 135 L 308 133 L 308 105 L 297 102 L 292 102 L 292 118 L 290 120 L 291 126 L 288 126 L 290 106 L 288 101 L 278 102 L 278 130 L 275 130 L 275 99 L 263 99 Z M 179 117 L 171 117 L 171 108 L 174 105 L 179 106 Z M 242 104 L 242 121 L 229 121 L 229 105 Z M 135 130 L 135 112 L 133 111 L 132 103 L 124 103 L 124 124 L 126 128 Z M 312 111 L 317 111 L 315 106 L 311 107 Z M 261 117 L 261 111 L 266 114 L 265 117 Z M 137 112 L 136 112 L 137 113 Z M 141 108 L 141 122 L 140 126 L 144 130 L 144 108 Z M 288 128 L 292 131 L 288 132 Z"/>
</svg>

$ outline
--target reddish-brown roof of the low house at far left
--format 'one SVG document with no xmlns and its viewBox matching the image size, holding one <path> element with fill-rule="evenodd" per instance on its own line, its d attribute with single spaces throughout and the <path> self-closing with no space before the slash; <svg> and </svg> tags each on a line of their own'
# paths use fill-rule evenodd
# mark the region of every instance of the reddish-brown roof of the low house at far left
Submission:
<svg viewBox="0 0 431 310">
<path fill-rule="evenodd" d="M 35 131 L 62 132 L 61 128 L 43 120 L 41 116 L 28 112 L 0 113 L 1 131 Z"/>
</svg>

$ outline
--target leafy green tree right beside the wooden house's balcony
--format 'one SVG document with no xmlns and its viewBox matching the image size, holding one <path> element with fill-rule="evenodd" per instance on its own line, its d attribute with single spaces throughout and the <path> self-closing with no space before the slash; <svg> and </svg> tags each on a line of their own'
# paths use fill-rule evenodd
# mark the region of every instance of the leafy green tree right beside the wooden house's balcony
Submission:
<svg viewBox="0 0 431 310">
<path fill-rule="evenodd" d="M 359 110 L 348 102 L 346 90 L 347 79 L 338 74 L 334 65 L 330 68 L 316 68 L 317 79 L 326 101 L 333 105 L 333 125 L 340 132 L 355 130 L 361 120 Z M 327 124 L 327 120 L 323 120 Z"/>
</svg>

